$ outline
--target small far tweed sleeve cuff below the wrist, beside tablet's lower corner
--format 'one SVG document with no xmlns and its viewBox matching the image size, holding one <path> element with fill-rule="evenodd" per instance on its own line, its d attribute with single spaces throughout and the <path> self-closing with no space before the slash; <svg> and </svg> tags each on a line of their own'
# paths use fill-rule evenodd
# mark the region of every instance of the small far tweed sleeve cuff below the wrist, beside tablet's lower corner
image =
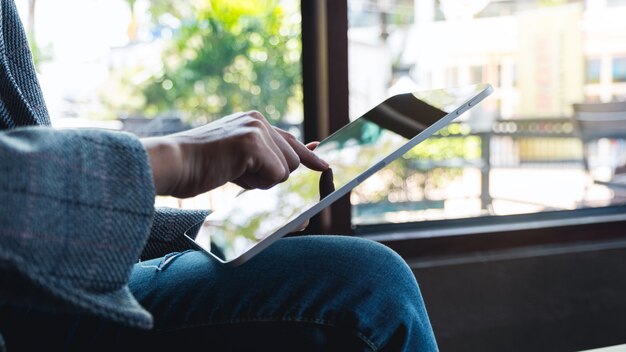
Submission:
<svg viewBox="0 0 626 352">
<path fill-rule="evenodd" d="M 141 253 L 141 260 L 194 248 L 184 234 L 195 235 L 209 213 L 209 210 L 156 208 L 150 238 Z"/>
</svg>

